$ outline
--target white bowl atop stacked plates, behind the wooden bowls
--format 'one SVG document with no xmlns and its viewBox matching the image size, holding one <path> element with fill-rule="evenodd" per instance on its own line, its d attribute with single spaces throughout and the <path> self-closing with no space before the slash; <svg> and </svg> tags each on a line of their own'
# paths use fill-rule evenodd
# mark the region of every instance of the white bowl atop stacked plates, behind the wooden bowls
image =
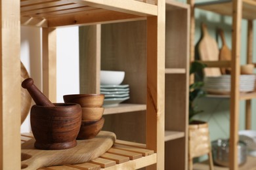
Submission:
<svg viewBox="0 0 256 170">
<path fill-rule="evenodd" d="M 117 106 L 129 99 L 129 84 L 121 84 L 124 71 L 100 71 L 100 93 L 105 95 L 103 105 Z"/>
</svg>

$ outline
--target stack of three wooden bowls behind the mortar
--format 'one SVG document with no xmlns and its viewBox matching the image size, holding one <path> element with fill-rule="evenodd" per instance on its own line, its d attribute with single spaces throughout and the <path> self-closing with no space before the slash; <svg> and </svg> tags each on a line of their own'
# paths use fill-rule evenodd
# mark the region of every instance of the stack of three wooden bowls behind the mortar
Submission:
<svg viewBox="0 0 256 170">
<path fill-rule="evenodd" d="M 78 103 L 81 105 L 81 127 L 77 139 L 92 139 L 104 125 L 103 94 L 71 94 L 63 96 L 65 103 Z"/>
</svg>

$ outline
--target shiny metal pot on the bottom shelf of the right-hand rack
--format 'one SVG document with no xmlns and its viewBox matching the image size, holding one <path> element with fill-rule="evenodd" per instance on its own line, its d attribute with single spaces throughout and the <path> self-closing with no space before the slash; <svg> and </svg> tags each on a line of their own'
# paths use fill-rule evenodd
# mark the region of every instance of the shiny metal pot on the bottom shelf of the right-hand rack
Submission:
<svg viewBox="0 0 256 170">
<path fill-rule="evenodd" d="M 229 140 L 217 139 L 211 143 L 213 152 L 213 162 L 217 165 L 228 167 L 229 165 Z M 239 141 L 238 149 L 238 165 L 243 165 L 247 160 L 246 144 Z"/>
</svg>

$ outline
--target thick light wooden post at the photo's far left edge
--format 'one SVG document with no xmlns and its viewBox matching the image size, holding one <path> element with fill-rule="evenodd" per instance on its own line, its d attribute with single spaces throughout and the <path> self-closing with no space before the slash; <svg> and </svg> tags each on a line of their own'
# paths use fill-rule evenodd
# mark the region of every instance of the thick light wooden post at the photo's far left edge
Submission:
<svg viewBox="0 0 256 170">
<path fill-rule="evenodd" d="M 20 169 L 20 1 L 0 8 L 0 169 Z"/>
</svg>

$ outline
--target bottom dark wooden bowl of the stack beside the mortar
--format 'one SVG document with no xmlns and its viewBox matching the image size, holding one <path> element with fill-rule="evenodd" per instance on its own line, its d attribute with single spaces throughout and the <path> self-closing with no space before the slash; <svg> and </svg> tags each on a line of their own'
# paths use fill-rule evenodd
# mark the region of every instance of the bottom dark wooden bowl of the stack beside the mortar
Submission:
<svg viewBox="0 0 256 170">
<path fill-rule="evenodd" d="M 77 139 L 92 139 L 98 135 L 104 125 L 104 118 L 95 121 L 81 121 L 80 131 Z"/>
</svg>

